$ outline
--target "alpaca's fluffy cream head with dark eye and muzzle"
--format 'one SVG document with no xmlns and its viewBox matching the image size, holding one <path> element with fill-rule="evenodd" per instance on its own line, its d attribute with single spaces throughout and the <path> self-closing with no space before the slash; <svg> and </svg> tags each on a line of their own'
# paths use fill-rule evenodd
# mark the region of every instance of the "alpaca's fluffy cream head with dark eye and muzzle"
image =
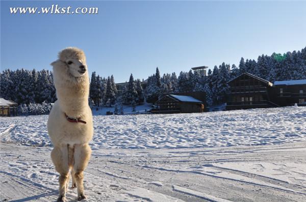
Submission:
<svg viewBox="0 0 306 202">
<path fill-rule="evenodd" d="M 68 68 L 73 77 L 82 77 L 87 71 L 86 56 L 83 50 L 68 47 L 59 52 L 59 60 Z"/>
</svg>

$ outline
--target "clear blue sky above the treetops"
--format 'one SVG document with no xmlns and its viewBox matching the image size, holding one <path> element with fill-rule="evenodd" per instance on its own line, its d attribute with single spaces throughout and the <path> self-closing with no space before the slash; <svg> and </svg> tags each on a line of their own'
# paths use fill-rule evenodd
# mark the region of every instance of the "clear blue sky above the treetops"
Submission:
<svg viewBox="0 0 306 202">
<path fill-rule="evenodd" d="M 10 7 L 98 7 L 98 14 L 10 14 Z M 1 1 L 1 70 L 49 69 L 82 48 L 90 70 L 116 82 L 191 67 L 239 64 L 306 45 L 306 2 Z"/>
</svg>

